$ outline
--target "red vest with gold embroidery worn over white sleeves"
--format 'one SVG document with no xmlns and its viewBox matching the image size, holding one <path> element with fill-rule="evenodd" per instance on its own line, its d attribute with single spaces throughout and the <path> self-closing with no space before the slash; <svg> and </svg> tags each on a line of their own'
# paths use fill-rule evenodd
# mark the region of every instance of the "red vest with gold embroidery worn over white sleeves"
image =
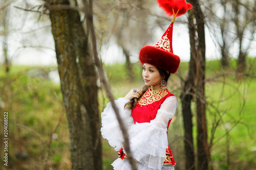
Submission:
<svg viewBox="0 0 256 170">
<path fill-rule="evenodd" d="M 170 93 L 168 89 L 165 90 L 152 90 L 152 88 L 148 88 L 148 90 L 140 97 L 135 108 L 132 110 L 132 116 L 134 119 L 134 124 L 137 123 L 150 123 L 151 120 L 156 118 L 157 111 L 160 108 L 161 104 L 165 101 L 169 96 L 175 96 Z M 167 125 L 167 134 L 170 121 Z M 119 158 L 122 160 L 126 157 L 123 153 L 122 148 L 118 152 Z M 168 146 L 166 149 L 166 158 L 164 164 L 169 164 L 171 166 L 175 165 L 175 160 L 173 158 L 172 151 Z"/>
</svg>

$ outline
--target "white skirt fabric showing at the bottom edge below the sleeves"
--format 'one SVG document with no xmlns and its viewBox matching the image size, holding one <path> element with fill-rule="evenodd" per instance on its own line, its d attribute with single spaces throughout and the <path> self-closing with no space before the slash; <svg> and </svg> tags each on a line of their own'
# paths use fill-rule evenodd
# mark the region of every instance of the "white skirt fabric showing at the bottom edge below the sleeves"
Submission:
<svg viewBox="0 0 256 170">
<path fill-rule="evenodd" d="M 115 170 L 127 170 L 131 169 L 131 166 L 127 159 L 121 160 L 120 158 L 116 159 L 112 164 L 111 164 Z M 137 162 L 138 170 L 158 170 L 157 168 L 151 168 L 148 167 L 142 163 Z M 170 165 L 163 165 L 161 170 L 174 170 L 174 166 Z"/>
</svg>

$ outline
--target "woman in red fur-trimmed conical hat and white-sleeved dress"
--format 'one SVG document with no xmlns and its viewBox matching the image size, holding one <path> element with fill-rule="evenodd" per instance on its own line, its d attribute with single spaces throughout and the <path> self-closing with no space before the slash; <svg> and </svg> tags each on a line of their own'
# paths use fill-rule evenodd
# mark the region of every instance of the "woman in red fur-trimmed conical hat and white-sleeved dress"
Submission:
<svg viewBox="0 0 256 170">
<path fill-rule="evenodd" d="M 168 146 L 167 131 L 177 107 L 177 98 L 165 86 L 170 74 L 174 74 L 180 64 L 180 58 L 173 54 L 172 48 L 175 17 L 184 14 L 192 6 L 180 0 L 158 0 L 158 3 L 168 15 L 173 15 L 173 20 L 154 46 L 144 46 L 140 51 L 145 86 L 142 90 L 133 89 L 124 98 L 115 101 L 129 133 L 130 148 L 138 170 L 174 169 L 175 165 Z M 130 169 L 111 103 L 107 104 L 101 118 L 103 138 L 108 139 L 110 145 L 119 151 L 119 158 L 112 163 L 114 169 Z"/>
</svg>

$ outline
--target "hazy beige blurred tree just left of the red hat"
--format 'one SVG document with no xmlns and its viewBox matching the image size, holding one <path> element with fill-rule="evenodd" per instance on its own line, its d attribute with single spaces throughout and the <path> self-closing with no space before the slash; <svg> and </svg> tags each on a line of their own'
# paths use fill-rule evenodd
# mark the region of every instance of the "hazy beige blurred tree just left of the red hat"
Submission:
<svg viewBox="0 0 256 170">
<path fill-rule="evenodd" d="M 134 81 L 133 67 L 131 63 L 131 52 L 135 46 L 144 45 L 150 36 L 147 29 L 148 12 L 143 7 L 146 2 L 143 0 L 131 1 L 130 6 L 120 9 L 122 15 L 122 28 L 115 31 L 118 45 L 122 48 L 126 59 L 126 68 L 129 71 L 130 80 Z M 136 30 L 136 31 L 134 31 Z"/>
</svg>

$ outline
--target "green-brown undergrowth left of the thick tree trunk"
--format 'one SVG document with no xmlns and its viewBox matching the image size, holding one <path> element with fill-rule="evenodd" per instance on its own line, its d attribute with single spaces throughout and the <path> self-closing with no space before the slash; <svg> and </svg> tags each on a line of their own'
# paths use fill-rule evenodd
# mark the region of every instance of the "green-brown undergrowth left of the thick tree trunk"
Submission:
<svg viewBox="0 0 256 170">
<path fill-rule="evenodd" d="M 40 74 L 34 75 L 36 70 L 41 70 L 39 72 L 42 74 L 46 72 L 47 75 L 50 69 L 47 67 L 13 66 L 8 74 L 0 72 L 0 98 L 4 103 L 2 107 L 0 106 L 0 111 L 9 113 L 8 154 L 10 159 L 8 166 L 13 169 L 27 169 L 27 167 L 31 169 L 35 165 L 43 166 L 48 152 L 51 131 L 58 117 L 63 114 L 59 85 L 55 85 Z M 30 72 L 31 70 L 32 72 Z M 2 134 L 2 132 L 0 133 Z M 62 139 L 62 137 L 68 138 L 66 117 L 62 118 L 55 133 L 58 134 L 58 138 L 52 139 L 48 165 L 59 165 L 63 148 L 69 148 L 69 140 Z M 55 140 L 62 143 L 58 149 L 56 149 Z M 3 169 L 3 164 L 0 165 L 0 168 Z"/>
</svg>

